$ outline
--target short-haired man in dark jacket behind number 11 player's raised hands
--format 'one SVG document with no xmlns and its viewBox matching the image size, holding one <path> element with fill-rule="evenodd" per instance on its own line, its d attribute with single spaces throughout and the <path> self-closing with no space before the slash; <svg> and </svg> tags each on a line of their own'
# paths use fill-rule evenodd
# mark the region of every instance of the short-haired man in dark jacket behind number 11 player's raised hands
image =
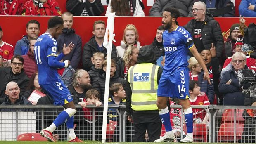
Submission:
<svg viewBox="0 0 256 144">
<path fill-rule="evenodd" d="M 57 40 L 58 50 L 59 52 L 62 52 L 64 43 L 66 45 L 68 45 L 70 42 L 74 44 L 72 51 L 66 55 L 63 60 L 69 60 L 72 68 L 76 70 L 81 59 L 82 39 L 75 33 L 75 30 L 72 28 L 74 23 L 73 14 L 70 12 L 64 12 L 62 14 L 62 19 L 64 21 L 64 28 L 62 30 L 62 34 L 59 35 Z"/>
</svg>

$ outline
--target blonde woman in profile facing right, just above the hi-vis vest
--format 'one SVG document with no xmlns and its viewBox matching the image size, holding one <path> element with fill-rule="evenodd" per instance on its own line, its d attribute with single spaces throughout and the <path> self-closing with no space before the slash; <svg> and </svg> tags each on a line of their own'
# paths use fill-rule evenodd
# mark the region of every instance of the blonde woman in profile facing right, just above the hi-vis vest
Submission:
<svg viewBox="0 0 256 144">
<path fill-rule="evenodd" d="M 138 54 L 139 49 L 137 48 L 137 46 L 129 45 L 129 47 L 125 50 L 123 54 L 123 59 L 119 59 L 116 64 L 116 74 L 118 74 L 119 77 L 126 80 L 128 69 L 137 63 Z"/>
</svg>

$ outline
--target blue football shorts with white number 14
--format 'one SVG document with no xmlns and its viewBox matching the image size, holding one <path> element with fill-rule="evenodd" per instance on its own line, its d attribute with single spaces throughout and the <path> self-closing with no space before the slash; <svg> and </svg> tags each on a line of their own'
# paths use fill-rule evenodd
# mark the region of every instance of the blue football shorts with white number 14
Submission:
<svg viewBox="0 0 256 144">
<path fill-rule="evenodd" d="M 159 80 L 157 96 L 188 99 L 189 80 L 190 78 L 187 68 L 171 76 L 162 75 Z"/>
</svg>

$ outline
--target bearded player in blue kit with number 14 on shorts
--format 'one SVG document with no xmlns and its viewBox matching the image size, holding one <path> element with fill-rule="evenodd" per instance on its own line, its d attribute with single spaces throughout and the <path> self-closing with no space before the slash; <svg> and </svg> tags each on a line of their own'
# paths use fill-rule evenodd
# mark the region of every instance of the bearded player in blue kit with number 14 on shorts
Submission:
<svg viewBox="0 0 256 144">
<path fill-rule="evenodd" d="M 163 12 L 162 24 L 165 65 L 157 90 L 157 107 L 166 133 L 154 142 L 175 142 L 170 122 L 170 113 L 166 105 L 169 97 L 178 98 L 184 109 L 187 135 L 180 140 L 183 143 L 193 142 L 193 113 L 189 102 L 188 50 L 197 59 L 204 70 L 204 79 L 210 83 L 210 76 L 203 59 L 197 52 L 193 39 L 183 27 L 177 25 L 179 11 L 166 8 Z"/>
</svg>

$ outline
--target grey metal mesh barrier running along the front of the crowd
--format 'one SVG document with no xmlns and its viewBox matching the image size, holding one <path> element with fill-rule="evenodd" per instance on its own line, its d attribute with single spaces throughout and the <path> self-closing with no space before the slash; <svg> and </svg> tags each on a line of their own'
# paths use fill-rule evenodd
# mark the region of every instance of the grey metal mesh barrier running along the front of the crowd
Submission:
<svg viewBox="0 0 256 144">
<path fill-rule="evenodd" d="M 74 115 L 75 132 L 80 139 L 100 140 L 102 127 L 103 106 L 88 105 L 90 111 L 84 113 L 81 106 L 76 105 Z M 128 122 L 125 106 L 109 105 L 116 109 L 117 117 L 107 120 L 107 141 L 133 142 L 133 123 Z M 180 105 L 171 108 L 183 109 Z M 254 106 L 192 106 L 193 109 L 204 109 L 209 114 L 209 123 L 202 124 L 195 119 L 193 134 L 195 142 L 251 142 L 256 141 L 256 118 L 244 112 L 244 109 L 256 109 Z M 3 112 L 8 110 L 9 112 Z M 20 109 L 28 109 L 23 112 Z M 53 105 L 0 105 L 0 140 L 16 140 L 22 133 L 38 133 L 49 126 L 57 115 L 63 111 L 62 106 Z M 205 114 L 205 113 L 203 113 Z M 86 119 L 87 118 L 87 119 Z M 174 125 L 178 130 L 177 139 L 186 134 L 184 116 L 180 114 L 180 124 Z M 173 123 L 171 121 L 171 123 Z M 162 133 L 164 134 L 164 127 Z M 184 133 L 183 133 L 184 132 Z M 67 140 L 67 129 L 61 125 L 53 134 L 59 135 L 60 140 Z M 147 138 L 145 139 L 147 141 Z"/>
</svg>

